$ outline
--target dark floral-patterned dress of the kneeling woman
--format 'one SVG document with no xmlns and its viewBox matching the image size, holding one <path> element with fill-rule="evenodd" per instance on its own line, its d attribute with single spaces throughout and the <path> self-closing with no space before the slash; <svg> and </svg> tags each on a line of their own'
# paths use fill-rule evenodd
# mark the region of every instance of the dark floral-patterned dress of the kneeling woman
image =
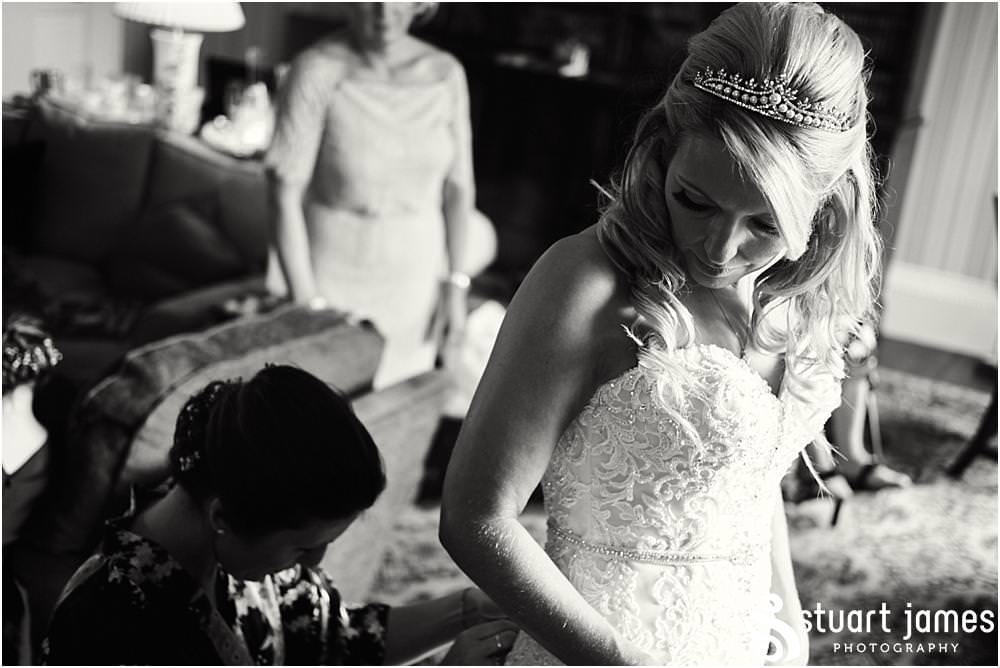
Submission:
<svg viewBox="0 0 1000 668">
<path fill-rule="evenodd" d="M 108 523 L 101 550 L 56 608 L 44 660 L 58 665 L 373 665 L 389 607 L 347 608 L 330 578 L 296 566 L 260 582 L 219 572 L 213 607 L 158 544 Z"/>
</svg>

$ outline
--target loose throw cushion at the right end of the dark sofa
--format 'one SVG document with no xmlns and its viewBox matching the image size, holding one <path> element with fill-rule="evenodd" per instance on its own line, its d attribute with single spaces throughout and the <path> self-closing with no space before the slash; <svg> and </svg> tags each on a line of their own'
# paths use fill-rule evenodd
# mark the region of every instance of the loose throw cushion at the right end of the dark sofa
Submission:
<svg viewBox="0 0 1000 668">
<path fill-rule="evenodd" d="M 112 290 L 152 301 L 245 274 L 243 257 L 219 230 L 218 199 L 207 191 L 147 210 L 108 258 Z"/>
</svg>

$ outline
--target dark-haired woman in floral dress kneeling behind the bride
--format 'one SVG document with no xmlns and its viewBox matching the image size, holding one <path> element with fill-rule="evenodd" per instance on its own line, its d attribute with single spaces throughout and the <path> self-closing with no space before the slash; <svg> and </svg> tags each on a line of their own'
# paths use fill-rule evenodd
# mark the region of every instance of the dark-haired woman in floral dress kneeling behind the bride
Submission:
<svg viewBox="0 0 1000 668">
<path fill-rule="evenodd" d="M 185 404 L 176 484 L 109 522 L 46 641 L 58 664 L 381 664 L 456 640 L 445 663 L 494 663 L 515 627 L 479 590 L 347 608 L 315 566 L 385 487 L 371 436 L 319 379 L 269 366 Z M 468 629 L 463 632 L 463 629 Z M 457 636 L 457 639 L 456 639 Z"/>
</svg>

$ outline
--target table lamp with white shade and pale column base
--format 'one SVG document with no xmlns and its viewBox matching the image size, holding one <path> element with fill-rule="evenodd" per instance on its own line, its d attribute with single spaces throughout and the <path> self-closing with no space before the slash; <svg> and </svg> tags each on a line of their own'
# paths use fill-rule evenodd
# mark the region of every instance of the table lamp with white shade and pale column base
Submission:
<svg viewBox="0 0 1000 668">
<path fill-rule="evenodd" d="M 205 32 L 229 32 L 243 27 L 238 2 L 119 2 L 120 18 L 153 26 L 153 86 L 163 101 L 162 124 L 191 132 L 204 91 L 198 88 L 198 51 Z M 195 103 L 194 101 L 197 100 Z"/>
</svg>

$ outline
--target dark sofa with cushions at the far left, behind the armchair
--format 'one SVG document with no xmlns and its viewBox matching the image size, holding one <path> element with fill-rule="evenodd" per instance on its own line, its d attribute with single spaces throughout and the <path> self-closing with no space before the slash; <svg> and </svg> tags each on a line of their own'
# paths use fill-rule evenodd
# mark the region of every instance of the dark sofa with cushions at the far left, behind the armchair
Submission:
<svg viewBox="0 0 1000 668">
<path fill-rule="evenodd" d="M 43 315 L 86 388 L 128 349 L 260 293 L 259 162 L 41 100 L 4 114 L 4 302 Z"/>
</svg>

